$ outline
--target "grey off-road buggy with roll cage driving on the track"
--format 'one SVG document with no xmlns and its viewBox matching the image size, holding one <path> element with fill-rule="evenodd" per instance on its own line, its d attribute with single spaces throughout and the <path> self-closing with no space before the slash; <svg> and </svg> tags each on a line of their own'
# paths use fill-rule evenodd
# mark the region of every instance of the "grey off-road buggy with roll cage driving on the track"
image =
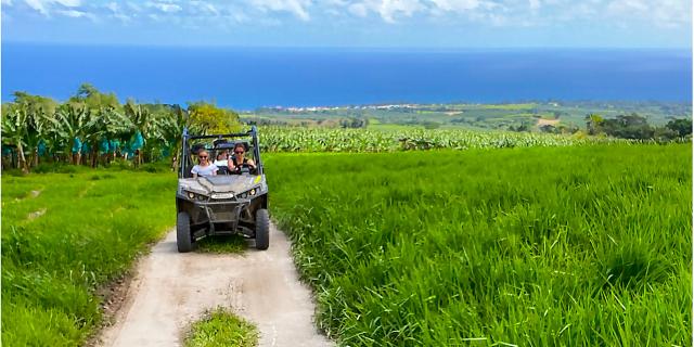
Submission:
<svg viewBox="0 0 694 347">
<path fill-rule="evenodd" d="M 221 152 L 233 153 L 237 143 L 244 145 L 246 155 L 253 155 L 255 168 L 244 165 L 230 171 L 221 166 L 216 176 L 193 178 L 191 169 L 198 151 L 205 149 L 214 159 Z M 256 248 L 267 249 L 268 184 L 256 127 L 247 132 L 205 136 L 189 134 L 184 129 L 182 150 L 176 193 L 178 252 L 190 252 L 201 237 L 231 234 L 255 239 Z"/>
</svg>

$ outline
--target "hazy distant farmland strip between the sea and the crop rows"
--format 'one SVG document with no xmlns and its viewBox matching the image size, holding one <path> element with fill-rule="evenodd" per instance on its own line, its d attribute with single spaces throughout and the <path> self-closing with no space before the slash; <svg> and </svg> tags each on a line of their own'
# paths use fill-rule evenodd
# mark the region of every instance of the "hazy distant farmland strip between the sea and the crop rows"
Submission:
<svg viewBox="0 0 694 347">
<path fill-rule="evenodd" d="M 378 108 L 381 107 L 381 108 Z M 314 108 L 314 107 L 313 107 Z M 312 108 L 311 108 L 312 110 Z M 298 126 L 319 126 L 339 118 L 369 119 L 376 128 L 386 125 L 424 126 L 435 124 L 444 128 L 498 129 L 527 125 L 531 131 L 539 131 L 537 120 L 556 119 L 557 126 L 586 127 L 586 115 L 599 114 L 605 118 L 638 113 L 654 126 L 664 126 L 671 118 L 691 118 L 692 106 L 681 102 L 607 102 L 607 101 L 544 101 L 528 103 L 450 103 L 450 104 L 403 104 L 384 108 L 380 105 L 326 107 L 325 110 L 275 110 L 261 108 L 246 113 L 242 117 L 254 121 L 284 121 Z"/>
</svg>

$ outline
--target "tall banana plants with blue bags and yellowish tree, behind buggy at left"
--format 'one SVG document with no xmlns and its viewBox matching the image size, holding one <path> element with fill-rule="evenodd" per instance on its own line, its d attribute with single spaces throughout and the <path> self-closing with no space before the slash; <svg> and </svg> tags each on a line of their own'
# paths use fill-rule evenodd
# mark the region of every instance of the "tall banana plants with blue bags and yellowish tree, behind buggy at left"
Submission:
<svg viewBox="0 0 694 347">
<path fill-rule="evenodd" d="M 235 113 L 208 103 L 120 104 L 113 93 L 82 85 L 64 103 L 15 92 L 2 104 L 2 169 L 28 172 L 40 164 L 97 167 L 114 160 L 134 166 L 170 157 L 176 166 L 184 127 L 232 131 Z"/>
</svg>

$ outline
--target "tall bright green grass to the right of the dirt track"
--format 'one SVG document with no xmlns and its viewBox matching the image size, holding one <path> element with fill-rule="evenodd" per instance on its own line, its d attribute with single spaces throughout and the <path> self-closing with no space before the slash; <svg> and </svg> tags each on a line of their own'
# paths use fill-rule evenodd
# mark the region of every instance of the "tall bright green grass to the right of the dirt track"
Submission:
<svg viewBox="0 0 694 347">
<path fill-rule="evenodd" d="M 273 218 L 350 346 L 692 338 L 691 145 L 266 160 Z"/>
</svg>

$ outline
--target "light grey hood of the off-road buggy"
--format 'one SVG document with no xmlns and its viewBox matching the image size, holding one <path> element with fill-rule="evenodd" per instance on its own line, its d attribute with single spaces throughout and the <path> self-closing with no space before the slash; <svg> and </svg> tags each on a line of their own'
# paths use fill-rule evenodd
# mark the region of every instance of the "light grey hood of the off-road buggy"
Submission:
<svg viewBox="0 0 694 347">
<path fill-rule="evenodd" d="M 220 175 L 179 180 L 179 187 L 184 190 L 209 195 L 211 193 L 243 193 L 257 187 L 261 176 Z"/>
</svg>

